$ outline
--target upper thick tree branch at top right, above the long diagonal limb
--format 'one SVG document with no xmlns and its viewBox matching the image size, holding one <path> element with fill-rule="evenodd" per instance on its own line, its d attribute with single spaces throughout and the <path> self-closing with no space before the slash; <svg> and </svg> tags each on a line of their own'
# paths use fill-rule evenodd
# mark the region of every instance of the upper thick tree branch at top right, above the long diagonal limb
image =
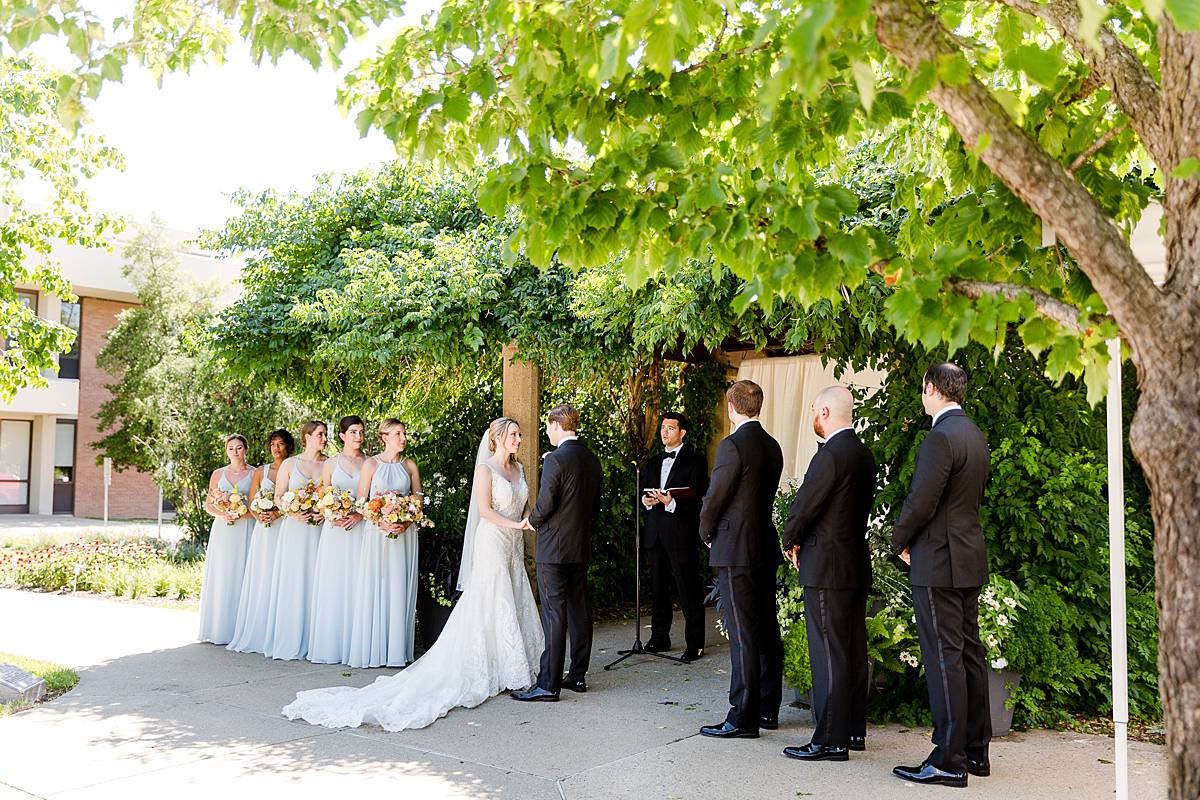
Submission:
<svg viewBox="0 0 1200 800">
<path fill-rule="evenodd" d="M 1160 167 L 1171 164 L 1170 149 L 1166 145 L 1166 131 L 1163 126 L 1163 94 L 1150 70 L 1129 48 L 1104 24 L 1098 34 L 1100 52 L 1079 35 L 1082 16 L 1078 0 L 997 0 L 1009 8 L 1037 17 L 1046 25 L 1058 31 L 1072 48 L 1079 53 L 1088 68 L 1105 84 L 1112 88 L 1112 98 L 1130 120 L 1142 145 L 1154 157 Z"/>
</svg>

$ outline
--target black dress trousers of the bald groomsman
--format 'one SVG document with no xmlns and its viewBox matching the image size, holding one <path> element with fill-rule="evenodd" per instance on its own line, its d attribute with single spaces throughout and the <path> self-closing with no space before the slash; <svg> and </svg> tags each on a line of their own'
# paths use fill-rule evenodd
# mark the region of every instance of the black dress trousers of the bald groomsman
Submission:
<svg viewBox="0 0 1200 800">
<path fill-rule="evenodd" d="M 815 745 L 866 735 L 866 593 L 804 587 Z"/>
</svg>

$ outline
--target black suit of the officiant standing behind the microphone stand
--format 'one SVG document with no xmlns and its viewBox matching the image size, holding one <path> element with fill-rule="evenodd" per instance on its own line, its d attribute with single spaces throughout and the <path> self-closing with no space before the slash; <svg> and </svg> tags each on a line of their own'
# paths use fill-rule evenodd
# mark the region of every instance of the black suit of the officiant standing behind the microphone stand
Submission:
<svg viewBox="0 0 1200 800">
<path fill-rule="evenodd" d="M 671 458 L 671 471 L 662 483 L 660 453 L 646 461 L 638 481 L 638 492 L 644 488 L 688 487 L 695 498 L 674 498 L 674 511 L 662 504 L 646 511 L 646 528 L 642 546 L 649 555 L 650 588 L 654 604 L 650 612 L 650 640 L 648 644 L 664 650 L 671 646 L 671 587 L 679 595 L 684 616 L 684 642 L 689 650 L 704 646 L 704 588 L 700 579 L 700 529 L 701 498 L 708 491 L 708 461 L 683 445 Z M 644 510 L 644 506 L 642 506 Z"/>
</svg>

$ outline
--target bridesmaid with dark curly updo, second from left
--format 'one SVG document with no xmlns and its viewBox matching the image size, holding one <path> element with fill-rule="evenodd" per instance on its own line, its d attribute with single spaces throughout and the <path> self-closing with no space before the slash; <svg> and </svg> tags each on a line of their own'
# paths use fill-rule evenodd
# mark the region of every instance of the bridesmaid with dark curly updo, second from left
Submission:
<svg viewBox="0 0 1200 800">
<path fill-rule="evenodd" d="M 250 481 L 250 499 L 259 489 L 275 491 L 280 465 L 295 450 L 292 434 L 280 428 L 268 437 L 271 463 L 254 470 Z M 229 649 L 235 652 L 262 652 L 266 644 L 266 612 L 271 599 L 271 573 L 275 570 L 275 546 L 278 543 L 278 511 L 256 513 L 254 533 L 250 537 L 250 555 L 246 560 L 246 578 L 241 583 L 241 603 L 238 606 L 238 626 L 234 628 Z"/>
</svg>

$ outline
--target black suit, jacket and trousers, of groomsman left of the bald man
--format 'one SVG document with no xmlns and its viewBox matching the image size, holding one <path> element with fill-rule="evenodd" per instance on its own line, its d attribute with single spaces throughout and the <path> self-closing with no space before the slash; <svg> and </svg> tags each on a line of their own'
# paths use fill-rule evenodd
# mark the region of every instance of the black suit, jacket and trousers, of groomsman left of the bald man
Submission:
<svg viewBox="0 0 1200 800">
<path fill-rule="evenodd" d="M 775 610 L 775 569 L 784 563 L 772 506 L 784 452 L 757 420 L 716 447 L 713 477 L 700 511 L 700 537 L 712 547 L 725 630 L 730 634 L 730 714 L 726 721 L 757 730 L 779 715 L 784 645 Z"/>
</svg>

